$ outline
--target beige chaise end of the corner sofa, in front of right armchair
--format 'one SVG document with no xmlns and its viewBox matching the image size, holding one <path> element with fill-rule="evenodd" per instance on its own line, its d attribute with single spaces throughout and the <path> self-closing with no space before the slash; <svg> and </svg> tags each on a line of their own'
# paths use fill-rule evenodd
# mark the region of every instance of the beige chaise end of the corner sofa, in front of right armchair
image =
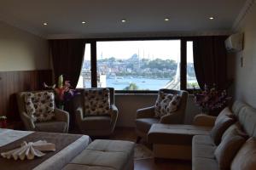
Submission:
<svg viewBox="0 0 256 170">
<path fill-rule="evenodd" d="M 155 158 L 191 160 L 193 136 L 209 134 L 211 129 L 195 125 L 154 123 L 148 132 L 148 143 L 153 144 Z"/>
</svg>

